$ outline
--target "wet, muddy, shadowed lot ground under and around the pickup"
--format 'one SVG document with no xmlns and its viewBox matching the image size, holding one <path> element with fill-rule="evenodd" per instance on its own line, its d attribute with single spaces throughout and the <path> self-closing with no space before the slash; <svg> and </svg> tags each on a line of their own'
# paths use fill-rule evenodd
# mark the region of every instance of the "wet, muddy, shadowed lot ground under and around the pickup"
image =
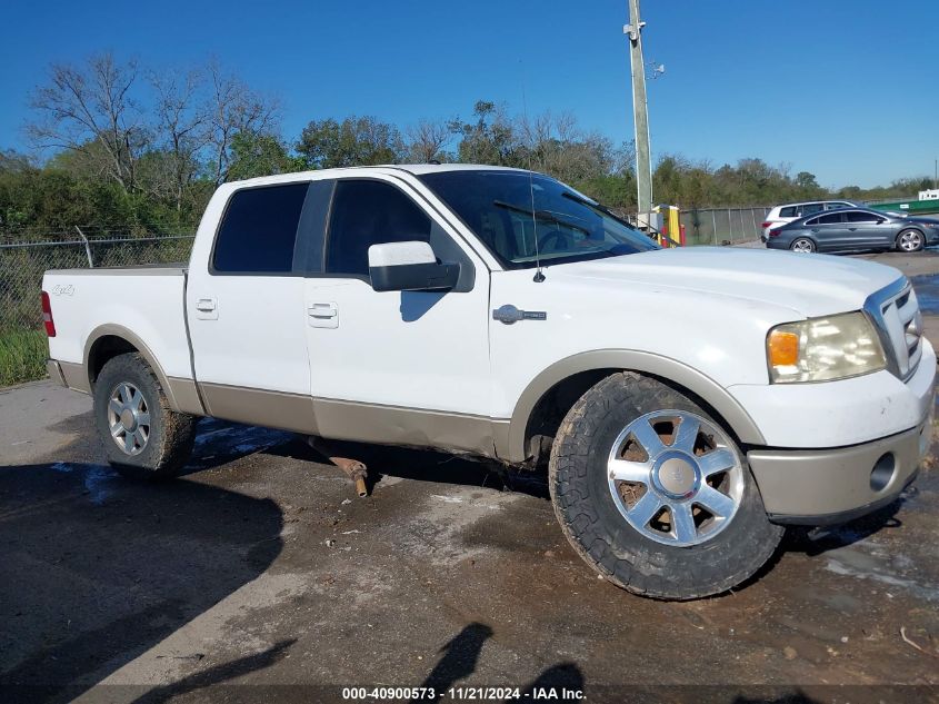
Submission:
<svg viewBox="0 0 939 704">
<path fill-rule="evenodd" d="M 939 257 L 878 258 L 925 277 L 925 308 L 939 305 Z M 0 698 L 310 702 L 374 685 L 939 696 L 931 459 L 893 506 L 792 533 L 742 588 L 672 604 L 598 579 L 541 477 L 346 448 L 369 465 L 366 499 L 299 438 L 217 420 L 187 476 L 141 485 L 102 464 L 87 397 L 0 391 Z"/>
</svg>

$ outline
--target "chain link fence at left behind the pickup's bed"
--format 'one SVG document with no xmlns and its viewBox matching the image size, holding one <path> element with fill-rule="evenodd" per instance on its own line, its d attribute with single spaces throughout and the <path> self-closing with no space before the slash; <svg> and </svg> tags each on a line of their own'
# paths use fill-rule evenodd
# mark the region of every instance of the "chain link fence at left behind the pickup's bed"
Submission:
<svg viewBox="0 0 939 704">
<path fill-rule="evenodd" d="M 0 386 L 40 378 L 47 356 L 40 290 L 48 269 L 189 260 L 193 235 L 0 235 Z"/>
</svg>

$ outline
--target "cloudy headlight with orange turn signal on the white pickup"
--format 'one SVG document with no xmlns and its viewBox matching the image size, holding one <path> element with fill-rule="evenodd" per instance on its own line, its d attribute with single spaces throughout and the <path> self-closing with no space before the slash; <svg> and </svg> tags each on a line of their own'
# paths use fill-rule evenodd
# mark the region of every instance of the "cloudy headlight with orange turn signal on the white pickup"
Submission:
<svg viewBox="0 0 939 704">
<path fill-rule="evenodd" d="M 773 384 L 827 381 L 886 368 L 883 347 L 862 313 L 778 325 L 767 335 Z"/>
</svg>

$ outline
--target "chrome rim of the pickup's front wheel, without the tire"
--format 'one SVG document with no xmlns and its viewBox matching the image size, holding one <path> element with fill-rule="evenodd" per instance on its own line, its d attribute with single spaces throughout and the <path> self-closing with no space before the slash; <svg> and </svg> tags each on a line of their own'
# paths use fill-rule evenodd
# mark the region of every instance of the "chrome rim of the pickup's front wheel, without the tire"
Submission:
<svg viewBox="0 0 939 704">
<path fill-rule="evenodd" d="M 676 546 L 703 543 L 733 518 L 743 467 L 730 438 L 687 410 L 659 410 L 630 423 L 607 462 L 619 513 L 643 536 Z"/>
</svg>

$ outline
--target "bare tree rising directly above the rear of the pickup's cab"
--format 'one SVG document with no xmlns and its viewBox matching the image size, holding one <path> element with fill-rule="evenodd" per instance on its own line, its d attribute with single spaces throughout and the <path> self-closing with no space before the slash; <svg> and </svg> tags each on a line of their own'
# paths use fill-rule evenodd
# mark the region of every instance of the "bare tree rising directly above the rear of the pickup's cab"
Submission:
<svg viewBox="0 0 939 704">
<path fill-rule="evenodd" d="M 228 179 L 231 142 L 239 132 L 261 135 L 272 131 L 280 116 L 276 100 L 252 91 L 240 78 L 224 73 L 216 61 L 209 63 L 209 132 L 212 148 L 211 171 L 216 184 Z"/>
</svg>

